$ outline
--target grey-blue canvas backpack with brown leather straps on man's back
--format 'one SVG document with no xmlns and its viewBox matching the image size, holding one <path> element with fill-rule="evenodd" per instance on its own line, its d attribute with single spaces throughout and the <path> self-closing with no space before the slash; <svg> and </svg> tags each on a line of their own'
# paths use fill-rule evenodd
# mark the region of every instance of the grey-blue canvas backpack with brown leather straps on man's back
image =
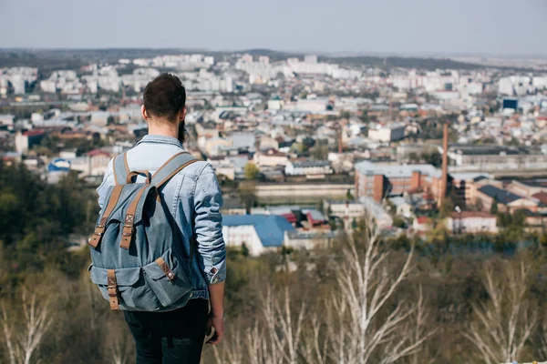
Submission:
<svg viewBox="0 0 547 364">
<path fill-rule="evenodd" d="M 191 295 L 191 251 L 161 202 L 160 188 L 198 159 L 187 152 L 171 157 L 151 176 L 129 171 L 127 155 L 114 159 L 116 185 L 109 187 L 88 244 L 89 272 L 114 310 L 166 311 L 186 305 Z M 144 183 L 133 177 L 145 175 Z"/>
</svg>

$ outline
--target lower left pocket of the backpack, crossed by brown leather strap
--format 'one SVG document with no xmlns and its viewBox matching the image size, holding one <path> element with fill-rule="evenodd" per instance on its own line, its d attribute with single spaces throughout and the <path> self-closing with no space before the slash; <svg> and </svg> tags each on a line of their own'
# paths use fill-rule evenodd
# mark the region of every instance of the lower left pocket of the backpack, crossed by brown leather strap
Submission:
<svg viewBox="0 0 547 364">
<path fill-rule="evenodd" d="M 98 285 L 103 298 L 108 298 L 108 269 L 89 266 L 91 280 Z M 157 311 L 160 301 L 148 286 L 141 268 L 116 269 L 119 292 L 119 309 L 129 311 Z"/>
</svg>

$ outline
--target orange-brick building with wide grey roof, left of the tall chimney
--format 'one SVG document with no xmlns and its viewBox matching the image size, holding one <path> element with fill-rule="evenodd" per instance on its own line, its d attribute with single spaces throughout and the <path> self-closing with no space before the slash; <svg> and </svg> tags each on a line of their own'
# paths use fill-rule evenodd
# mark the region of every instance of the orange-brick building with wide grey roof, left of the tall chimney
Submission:
<svg viewBox="0 0 547 364">
<path fill-rule="evenodd" d="M 385 165 L 372 162 L 356 164 L 356 197 L 370 196 L 381 201 L 388 195 L 430 191 L 440 199 L 442 173 L 431 165 Z"/>
</svg>

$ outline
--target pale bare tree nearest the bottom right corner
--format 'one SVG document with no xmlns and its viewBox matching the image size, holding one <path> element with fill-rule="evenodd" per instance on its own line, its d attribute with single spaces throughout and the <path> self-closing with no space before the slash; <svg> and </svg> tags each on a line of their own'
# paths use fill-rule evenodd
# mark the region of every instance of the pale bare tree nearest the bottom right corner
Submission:
<svg viewBox="0 0 547 364">
<path fill-rule="evenodd" d="M 484 288 L 487 302 L 473 305 L 475 321 L 465 337 L 475 345 L 486 363 L 519 360 L 526 341 L 538 322 L 537 313 L 526 299 L 531 268 L 521 261 L 519 267 L 506 265 L 505 274 L 485 268 Z"/>
</svg>

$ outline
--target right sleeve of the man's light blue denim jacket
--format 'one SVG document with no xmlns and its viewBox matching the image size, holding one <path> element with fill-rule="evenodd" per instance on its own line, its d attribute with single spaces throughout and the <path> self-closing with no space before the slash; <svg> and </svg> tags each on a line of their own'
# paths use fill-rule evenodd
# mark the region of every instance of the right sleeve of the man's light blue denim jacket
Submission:
<svg viewBox="0 0 547 364">
<path fill-rule="evenodd" d="M 226 279 L 226 248 L 222 238 L 221 187 L 207 165 L 196 181 L 194 193 L 195 233 L 202 269 L 209 284 Z"/>
</svg>

